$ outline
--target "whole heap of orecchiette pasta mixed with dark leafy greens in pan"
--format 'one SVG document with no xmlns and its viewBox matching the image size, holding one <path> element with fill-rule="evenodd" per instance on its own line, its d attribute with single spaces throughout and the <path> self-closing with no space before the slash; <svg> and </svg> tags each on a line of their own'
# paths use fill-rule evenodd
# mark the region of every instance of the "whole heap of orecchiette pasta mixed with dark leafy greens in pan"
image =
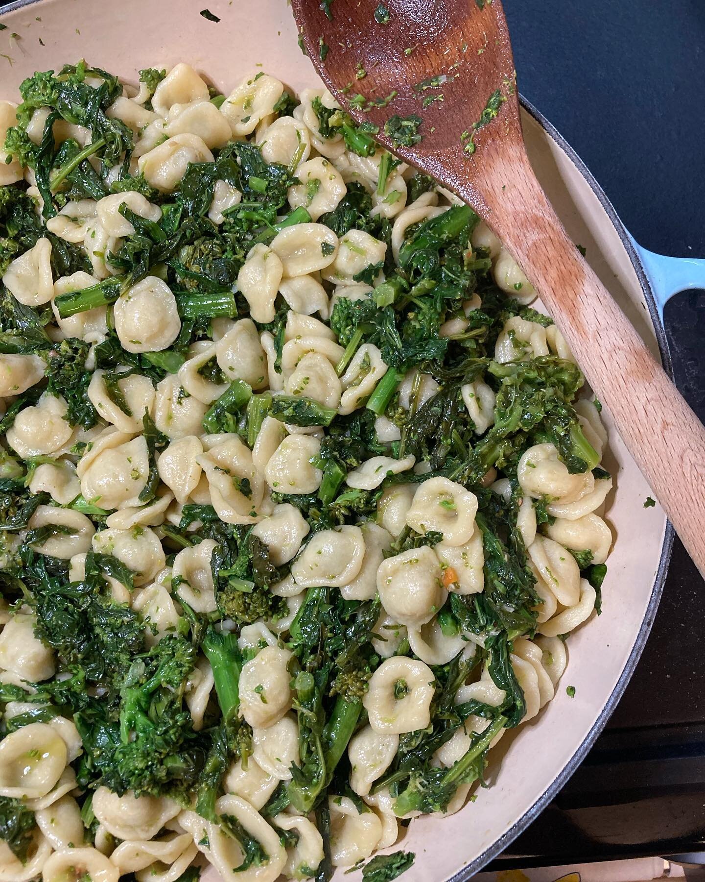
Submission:
<svg viewBox="0 0 705 882">
<path fill-rule="evenodd" d="M 553 698 L 610 601 L 601 406 L 329 91 L 138 76 L 0 101 L 0 882 L 312 878 Z"/>
</svg>

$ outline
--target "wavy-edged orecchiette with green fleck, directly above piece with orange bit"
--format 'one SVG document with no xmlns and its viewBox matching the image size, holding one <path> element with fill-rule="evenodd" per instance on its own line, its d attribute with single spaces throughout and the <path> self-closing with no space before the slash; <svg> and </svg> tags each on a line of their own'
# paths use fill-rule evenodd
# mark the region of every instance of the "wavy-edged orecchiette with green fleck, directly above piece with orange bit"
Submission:
<svg viewBox="0 0 705 882">
<path fill-rule="evenodd" d="M 471 490 L 439 476 L 419 484 L 406 523 L 417 533 L 442 533 L 446 545 L 464 545 L 471 540 L 477 511 L 478 497 Z"/>
</svg>

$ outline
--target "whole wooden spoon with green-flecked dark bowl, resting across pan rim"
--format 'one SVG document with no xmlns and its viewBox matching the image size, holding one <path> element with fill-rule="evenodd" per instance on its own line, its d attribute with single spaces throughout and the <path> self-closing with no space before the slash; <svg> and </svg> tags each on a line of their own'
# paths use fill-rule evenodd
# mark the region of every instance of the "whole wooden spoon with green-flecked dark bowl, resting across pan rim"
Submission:
<svg viewBox="0 0 705 882">
<path fill-rule="evenodd" d="M 501 0 L 291 2 L 341 106 L 379 126 L 383 146 L 455 191 L 508 247 L 705 576 L 705 428 L 534 176 Z M 401 130 L 418 131 L 417 143 L 393 137 L 404 119 Z"/>
</svg>

